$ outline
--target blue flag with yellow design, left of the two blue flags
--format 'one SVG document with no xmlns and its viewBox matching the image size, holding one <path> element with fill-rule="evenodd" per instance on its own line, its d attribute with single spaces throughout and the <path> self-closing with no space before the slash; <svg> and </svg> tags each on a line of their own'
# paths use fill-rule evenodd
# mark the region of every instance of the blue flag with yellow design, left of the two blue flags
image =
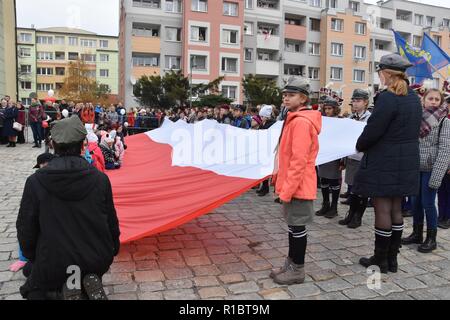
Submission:
<svg viewBox="0 0 450 320">
<path fill-rule="evenodd" d="M 416 83 L 422 83 L 425 79 L 433 79 L 433 70 L 428 64 L 427 53 L 411 46 L 398 32 L 394 30 L 392 32 L 394 32 L 398 53 L 414 65 L 408 68 L 406 73 L 415 77 Z"/>
</svg>

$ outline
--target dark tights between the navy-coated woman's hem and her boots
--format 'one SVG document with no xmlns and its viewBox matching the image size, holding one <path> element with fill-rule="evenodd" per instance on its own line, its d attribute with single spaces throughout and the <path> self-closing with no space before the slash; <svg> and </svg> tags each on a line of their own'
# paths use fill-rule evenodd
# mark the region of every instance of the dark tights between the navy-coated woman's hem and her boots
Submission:
<svg viewBox="0 0 450 320">
<path fill-rule="evenodd" d="M 375 207 L 375 227 L 391 230 L 392 225 L 402 225 L 402 197 L 372 198 Z"/>
</svg>

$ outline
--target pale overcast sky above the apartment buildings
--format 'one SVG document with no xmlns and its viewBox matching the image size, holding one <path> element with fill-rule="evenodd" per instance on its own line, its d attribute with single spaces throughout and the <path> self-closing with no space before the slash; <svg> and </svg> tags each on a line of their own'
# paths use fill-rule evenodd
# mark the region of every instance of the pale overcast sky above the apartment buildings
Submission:
<svg viewBox="0 0 450 320">
<path fill-rule="evenodd" d="M 72 27 L 102 35 L 119 35 L 119 0 L 16 0 L 19 27 Z M 217 0 L 215 0 L 217 1 Z M 413 0 L 445 6 L 450 0 Z M 377 0 L 365 0 L 376 3 Z"/>
</svg>

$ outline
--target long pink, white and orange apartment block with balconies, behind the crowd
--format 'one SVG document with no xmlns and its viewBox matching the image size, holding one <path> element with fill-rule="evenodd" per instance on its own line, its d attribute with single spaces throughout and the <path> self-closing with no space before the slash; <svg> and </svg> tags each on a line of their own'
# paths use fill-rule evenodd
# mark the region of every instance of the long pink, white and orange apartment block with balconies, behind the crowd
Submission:
<svg viewBox="0 0 450 320">
<path fill-rule="evenodd" d="M 427 32 L 449 52 L 449 24 L 450 8 L 406 0 L 121 0 L 119 95 L 136 105 L 142 75 L 181 69 L 193 83 L 225 76 L 222 93 L 243 102 L 244 75 L 280 86 L 301 75 L 313 98 L 331 83 L 348 109 L 354 89 L 378 89 L 375 67 L 396 51 L 391 28 L 416 46 Z"/>
</svg>

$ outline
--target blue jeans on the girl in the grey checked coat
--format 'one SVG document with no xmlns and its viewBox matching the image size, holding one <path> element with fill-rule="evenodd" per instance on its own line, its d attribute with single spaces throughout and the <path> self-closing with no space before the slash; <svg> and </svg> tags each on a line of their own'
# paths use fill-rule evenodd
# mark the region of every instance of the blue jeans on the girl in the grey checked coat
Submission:
<svg viewBox="0 0 450 320">
<path fill-rule="evenodd" d="M 436 209 L 437 190 L 428 187 L 431 172 L 420 173 L 420 194 L 413 197 L 412 208 L 414 213 L 414 224 L 423 224 L 424 216 L 427 216 L 427 229 L 437 229 L 438 216 Z"/>
</svg>

